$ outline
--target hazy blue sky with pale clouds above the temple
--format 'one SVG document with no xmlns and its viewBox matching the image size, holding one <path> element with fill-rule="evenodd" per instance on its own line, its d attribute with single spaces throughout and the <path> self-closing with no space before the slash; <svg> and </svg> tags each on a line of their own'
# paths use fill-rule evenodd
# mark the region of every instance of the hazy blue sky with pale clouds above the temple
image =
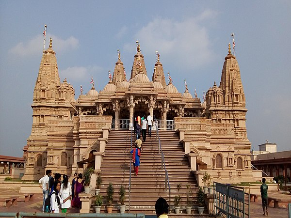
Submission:
<svg viewBox="0 0 291 218">
<path fill-rule="evenodd" d="M 246 2 L 246 3 L 245 3 Z M 220 82 L 231 33 L 246 97 L 252 148 L 291 141 L 291 1 L 43 1 L 0 0 L 0 154 L 22 156 L 32 127 L 32 93 L 43 50 L 53 38 L 59 75 L 76 99 L 108 82 L 120 49 L 127 78 L 139 40 L 151 78 L 161 55 L 178 91 L 202 99 Z"/>
</svg>

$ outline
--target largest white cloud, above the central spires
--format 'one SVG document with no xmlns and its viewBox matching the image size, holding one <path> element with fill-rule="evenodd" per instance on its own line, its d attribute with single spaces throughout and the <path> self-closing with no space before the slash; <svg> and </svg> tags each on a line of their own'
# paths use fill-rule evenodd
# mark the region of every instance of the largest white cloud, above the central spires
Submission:
<svg viewBox="0 0 291 218">
<path fill-rule="evenodd" d="M 142 27 L 134 35 L 134 39 L 139 40 L 144 55 L 154 55 L 155 50 L 158 50 L 162 63 L 174 60 L 171 65 L 193 70 L 211 62 L 215 56 L 207 28 L 200 24 L 203 20 L 215 16 L 214 11 L 206 10 L 197 17 L 186 18 L 180 22 L 155 18 Z M 132 50 L 134 45 L 126 44 L 124 49 Z"/>
</svg>

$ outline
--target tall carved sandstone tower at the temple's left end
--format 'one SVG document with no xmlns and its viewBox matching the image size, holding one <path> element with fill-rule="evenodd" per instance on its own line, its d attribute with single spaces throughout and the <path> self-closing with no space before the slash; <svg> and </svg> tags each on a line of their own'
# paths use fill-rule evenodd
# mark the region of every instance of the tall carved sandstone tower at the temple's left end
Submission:
<svg viewBox="0 0 291 218">
<path fill-rule="evenodd" d="M 75 113 L 74 97 L 73 87 L 66 79 L 63 83 L 60 81 L 56 53 L 50 39 L 49 48 L 43 52 L 33 91 L 32 132 L 23 149 L 27 157 L 24 180 L 43 174 L 43 166 L 48 164 L 52 122 L 71 120 Z"/>
</svg>

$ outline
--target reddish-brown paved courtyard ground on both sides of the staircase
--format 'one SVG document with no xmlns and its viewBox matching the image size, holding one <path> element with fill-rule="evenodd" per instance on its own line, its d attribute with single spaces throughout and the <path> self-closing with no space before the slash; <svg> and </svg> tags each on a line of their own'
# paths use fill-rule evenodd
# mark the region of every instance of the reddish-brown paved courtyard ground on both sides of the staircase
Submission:
<svg viewBox="0 0 291 218">
<path fill-rule="evenodd" d="M 276 194 L 276 195 L 282 195 L 282 194 Z M 0 198 L 8 197 L 8 196 L 19 196 L 19 200 L 17 202 L 17 206 L 11 206 L 9 208 L 3 207 L 2 204 L 0 206 L 0 212 L 41 212 L 42 208 L 42 194 L 35 194 L 34 200 L 30 202 L 24 202 L 24 197 L 22 194 L 19 194 L 17 190 L 11 190 L 11 189 L 1 189 L 0 188 Z M 284 195 L 282 197 L 291 199 L 291 195 Z M 259 197 L 257 202 L 251 202 L 251 218 L 262 218 L 263 212 L 262 212 L 262 206 L 261 206 L 261 199 Z M 79 213 L 79 209 L 75 208 L 69 208 L 69 213 Z M 269 207 L 268 208 L 269 217 L 270 218 L 287 218 L 288 217 L 288 209 L 287 208 L 274 208 Z M 181 215 L 175 215 L 170 214 L 169 218 L 183 218 L 185 216 Z M 189 218 L 189 217 L 188 217 Z M 198 218 L 198 217 L 196 217 Z"/>
</svg>

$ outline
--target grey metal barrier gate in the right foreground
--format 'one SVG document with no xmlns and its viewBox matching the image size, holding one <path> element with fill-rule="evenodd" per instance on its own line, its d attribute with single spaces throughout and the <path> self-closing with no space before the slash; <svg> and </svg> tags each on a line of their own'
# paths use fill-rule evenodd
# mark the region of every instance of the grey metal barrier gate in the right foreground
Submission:
<svg viewBox="0 0 291 218">
<path fill-rule="evenodd" d="M 250 194 L 244 187 L 214 182 L 214 212 L 226 218 L 249 218 Z"/>
</svg>

